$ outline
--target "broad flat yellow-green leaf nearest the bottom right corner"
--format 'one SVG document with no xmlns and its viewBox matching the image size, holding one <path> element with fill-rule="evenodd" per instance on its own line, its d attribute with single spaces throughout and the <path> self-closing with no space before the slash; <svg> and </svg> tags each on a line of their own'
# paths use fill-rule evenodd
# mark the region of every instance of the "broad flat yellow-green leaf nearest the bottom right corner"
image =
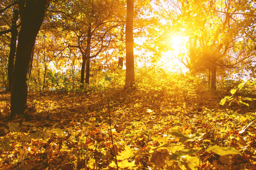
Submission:
<svg viewBox="0 0 256 170">
<path fill-rule="evenodd" d="M 228 147 L 221 147 L 218 145 L 215 146 L 210 146 L 207 148 L 206 151 L 212 151 L 215 154 L 218 154 L 220 156 L 224 156 L 224 155 L 230 155 L 230 154 L 234 154 L 234 155 L 242 155 L 240 154 L 240 152 L 238 150 L 236 150 L 236 148 L 228 146 Z"/>
</svg>

